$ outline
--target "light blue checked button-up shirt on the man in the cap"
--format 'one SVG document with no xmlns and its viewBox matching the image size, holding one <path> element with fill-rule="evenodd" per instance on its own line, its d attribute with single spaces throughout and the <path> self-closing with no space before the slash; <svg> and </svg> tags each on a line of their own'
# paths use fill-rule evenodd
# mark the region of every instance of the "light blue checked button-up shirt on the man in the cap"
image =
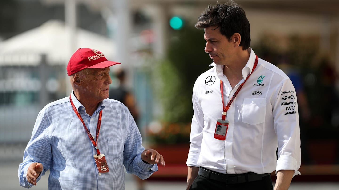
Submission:
<svg viewBox="0 0 339 190">
<path fill-rule="evenodd" d="M 141 160 L 144 150 L 141 136 L 124 104 L 105 99 L 91 117 L 73 92 L 72 101 L 94 138 L 102 110 L 98 147 L 100 153 L 105 155 L 109 172 L 98 172 L 93 157 L 95 147 L 74 113 L 69 97 L 65 97 L 47 104 L 39 112 L 23 162 L 19 165 L 19 183 L 22 187 L 33 186 L 27 182 L 26 173 L 28 166 L 34 162 L 43 165 L 37 181 L 50 170 L 50 190 L 119 190 L 125 187 L 124 166 L 127 173 L 134 173 L 141 179 L 158 170 L 157 165 L 148 165 Z"/>
</svg>

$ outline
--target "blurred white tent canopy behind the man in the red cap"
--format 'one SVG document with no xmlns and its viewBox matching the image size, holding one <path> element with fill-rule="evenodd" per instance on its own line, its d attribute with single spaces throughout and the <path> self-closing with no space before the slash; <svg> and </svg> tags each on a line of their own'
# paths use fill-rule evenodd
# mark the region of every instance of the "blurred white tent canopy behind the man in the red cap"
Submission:
<svg viewBox="0 0 339 190">
<path fill-rule="evenodd" d="M 68 27 L 58 20 L 49 20 L 41 26 L 0 42 L 1 65 L 39 64 L 41 54 L 46 55 L 47 64 L 63 65 L 78 48 L 92 48 L 101 51 L 108 60 L 114 61 L 115 44 L 102 35 L 77 28 L 75 47 L 69 49 Z"/>
</svg>

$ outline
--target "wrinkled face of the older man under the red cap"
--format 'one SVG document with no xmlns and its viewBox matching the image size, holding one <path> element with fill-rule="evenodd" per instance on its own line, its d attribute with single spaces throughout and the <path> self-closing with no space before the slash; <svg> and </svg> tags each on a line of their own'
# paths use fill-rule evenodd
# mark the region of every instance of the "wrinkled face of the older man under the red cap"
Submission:
<svg viewBox="0 0 339 190">
<path fill-rule="evenodd" d="M 109 67 L 103 69 L 84 69 L 79 74 L 81 89 L 86 94 L 86 99 L 93 102 L 100 102 L 108 98 L 109 85 L 112 83 L 109 76 Z"/>
</svg>

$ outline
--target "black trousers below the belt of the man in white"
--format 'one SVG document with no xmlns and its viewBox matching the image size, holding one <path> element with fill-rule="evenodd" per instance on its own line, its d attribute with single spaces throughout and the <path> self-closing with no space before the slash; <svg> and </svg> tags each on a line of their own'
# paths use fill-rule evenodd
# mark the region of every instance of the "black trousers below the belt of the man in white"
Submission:
<svg viewBox="0 0 339 190">
<path fill-rule="evenodd" d="M 262 180 L 227 185 L 215 180 L 207 180 L 206 177 L 198 175 L 193 181 L 190 190 L 273 190 L 271 175 L 267 175 Z"/>
</svg>

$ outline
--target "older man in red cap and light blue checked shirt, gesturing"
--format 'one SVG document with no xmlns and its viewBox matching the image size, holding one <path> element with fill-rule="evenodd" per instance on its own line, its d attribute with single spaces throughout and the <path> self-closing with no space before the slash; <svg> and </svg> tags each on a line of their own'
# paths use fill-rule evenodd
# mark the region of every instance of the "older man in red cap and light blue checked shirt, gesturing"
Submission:
<svg viewBox="0 0 339 190">
<path fill-rule="evenodd" d="M 124 189 L 123 167 L 146 179 L 158 163 L 165 166 L 162 155 L 141 145 L 126 106 L 107 99 L 115 64 L 94 49 L 72 55 L 67 74 L 73 91 L 39 112 L 19 165 L 22 187 L 36 185 L 49 169 L 48 189 Z"/>
</svg>

